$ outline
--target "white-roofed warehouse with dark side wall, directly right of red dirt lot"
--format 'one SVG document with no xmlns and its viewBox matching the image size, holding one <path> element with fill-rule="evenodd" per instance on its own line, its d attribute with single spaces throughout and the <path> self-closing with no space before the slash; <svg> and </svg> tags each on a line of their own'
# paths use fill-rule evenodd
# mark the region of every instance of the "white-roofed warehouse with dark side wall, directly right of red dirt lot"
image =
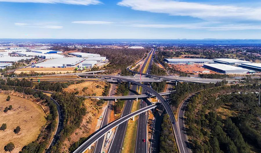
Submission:
<svg viewBox="0 0 261 153">
<path fill-rule="evenodd" d="M 241 67 L 236 67 L 227 64 L 203 64 L 204 68 L 225 74 L 246 74 L 251 72 L 248 69 L 244 69 Z"/>
</svg>

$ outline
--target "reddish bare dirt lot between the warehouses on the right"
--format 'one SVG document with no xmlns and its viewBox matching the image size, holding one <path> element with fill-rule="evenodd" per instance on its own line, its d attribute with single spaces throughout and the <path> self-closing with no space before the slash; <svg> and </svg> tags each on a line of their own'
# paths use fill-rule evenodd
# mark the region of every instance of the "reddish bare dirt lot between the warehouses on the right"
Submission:
<svg viewBox="0 0 261 153">
<path fill-rule="evenodd" d="M 186 72 L 186 73 L 194 73 L 194 74 L 199 74 L 202 73 L 202 71 L 209 71 L 209 73 L 205 74 L 211 74 L 211 73 L 217 73 L 215 71 L 203 68 L 202 64 L 171 64 L 172 68 L 178 71 Z M 199 73 L 195 73 L 195 71 L 198 71 Z"/>
</svg>

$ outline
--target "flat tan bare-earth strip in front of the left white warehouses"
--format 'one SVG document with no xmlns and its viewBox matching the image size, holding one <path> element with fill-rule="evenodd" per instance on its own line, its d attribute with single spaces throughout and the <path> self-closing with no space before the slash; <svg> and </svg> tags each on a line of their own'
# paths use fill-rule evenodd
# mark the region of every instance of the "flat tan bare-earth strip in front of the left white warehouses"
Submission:
<svg viewBox="0 0 261 153">
<path fill-rule="evenodd" d="M 37 72 L 37 73 L 73 73 L 74 72 L 74 67 L 66 67 L 66 68 L 23 68 L 23 69 L 18 69 L 14 71 L 14 73 L 20 74 L 21 72 L 23 73 L 30 73 L 31 71 Z"/>
</svg>

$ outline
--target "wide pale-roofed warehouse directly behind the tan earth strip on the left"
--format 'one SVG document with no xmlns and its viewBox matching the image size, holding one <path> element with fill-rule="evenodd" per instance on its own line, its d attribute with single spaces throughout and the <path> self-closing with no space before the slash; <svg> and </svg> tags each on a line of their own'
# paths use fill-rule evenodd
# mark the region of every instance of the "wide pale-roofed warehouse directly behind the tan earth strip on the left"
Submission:
<svg viewBox="0 0 261 153">
<path fill-rule="evenodd" d="M 35 67 L 76 67 L 76 64 L 84 60 L 85 58 L 80 57 L 56 58 L 35 64 Z"/>
</svg>

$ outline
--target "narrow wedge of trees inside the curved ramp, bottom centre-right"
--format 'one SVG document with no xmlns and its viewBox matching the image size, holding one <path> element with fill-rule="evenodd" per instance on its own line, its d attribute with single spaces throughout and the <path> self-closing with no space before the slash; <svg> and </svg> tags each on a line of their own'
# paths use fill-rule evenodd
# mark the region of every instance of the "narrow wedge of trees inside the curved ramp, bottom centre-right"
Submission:
<svg viewBox="0 0 261 153">
<path fill-rule="evenodd" d="M 168 114 L 164 114 L 160 132 L 160 153 L 177 153 L 177 145 Z"/>
</svg>

